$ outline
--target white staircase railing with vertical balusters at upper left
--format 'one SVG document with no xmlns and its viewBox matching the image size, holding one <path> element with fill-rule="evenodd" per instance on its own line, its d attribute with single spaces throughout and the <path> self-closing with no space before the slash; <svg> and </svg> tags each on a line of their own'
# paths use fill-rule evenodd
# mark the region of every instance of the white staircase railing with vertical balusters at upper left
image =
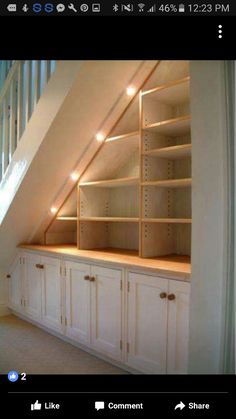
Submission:
<svg viewBox="0 0 236 419">
<path fill-rule="evenodd" d="M 14 61 L 0 91 L 0 182 L 56 61 Z"/>
</svg>

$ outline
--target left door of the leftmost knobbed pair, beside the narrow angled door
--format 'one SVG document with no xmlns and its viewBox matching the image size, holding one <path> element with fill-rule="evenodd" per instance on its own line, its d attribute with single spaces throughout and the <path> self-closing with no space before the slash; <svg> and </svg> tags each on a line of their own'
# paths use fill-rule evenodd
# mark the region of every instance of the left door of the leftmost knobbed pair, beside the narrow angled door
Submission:
<svg viewBox="0 0 236 419">
<path fill-rule="evenodd" d="M 26 313 L 35 320 L 41 320 L 42 313 L 42 279 L 41 269 L 36 265 L 41 264 L 39 255 L 25 254 L 24 257 L 24 284 Z"/>
</svg>

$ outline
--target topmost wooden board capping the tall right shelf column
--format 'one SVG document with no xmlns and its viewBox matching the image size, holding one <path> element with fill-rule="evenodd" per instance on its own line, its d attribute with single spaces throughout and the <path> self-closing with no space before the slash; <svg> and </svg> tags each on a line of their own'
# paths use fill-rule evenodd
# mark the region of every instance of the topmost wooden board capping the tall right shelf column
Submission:
<svg viewBox="0 0 236 419">
<path fill-rule="evenodd" d="M 152 100 L 166 103 L 168 105 L 176 105 L 189 100 L 189 84 L 190 78 L 185 77 L 180 80 L 146 90 L 142 93 L 143 97 L 150 97 Z"/>
</svg>

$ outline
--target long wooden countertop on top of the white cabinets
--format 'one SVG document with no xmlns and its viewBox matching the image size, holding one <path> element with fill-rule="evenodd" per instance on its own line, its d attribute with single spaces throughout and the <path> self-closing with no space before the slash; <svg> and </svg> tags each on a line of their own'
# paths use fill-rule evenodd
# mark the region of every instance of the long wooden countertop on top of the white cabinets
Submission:
<svg viewBox="0 0 236 419">
<path fill-rule="evenodd" d="M 189 256 L 170 255 L 158 258 L 140 258 L 138 252 L 124 249 L 79 250 L 75 245 L 31 245 L 21 244 L 21 249 L 35 250 L 55 255 L 78 257 L 90 261 L 117 263 L 125 267 L 143 268 L 152 273 L 172 276 L 182 281 L 189 281 L 191 264 Z"/>
</svg>

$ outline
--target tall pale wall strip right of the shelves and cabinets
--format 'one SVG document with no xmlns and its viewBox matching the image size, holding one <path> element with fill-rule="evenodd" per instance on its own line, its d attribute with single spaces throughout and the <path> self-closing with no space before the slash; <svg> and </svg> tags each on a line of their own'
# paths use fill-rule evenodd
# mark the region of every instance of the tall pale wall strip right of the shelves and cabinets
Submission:
<svg viewBox="0 0 236 419">
<path fill-rule="evenodd" d="M 220 373 L 226 234 L 223 61 L 191 62 L 193 143 L 190 373 Z"/>
</svg>

